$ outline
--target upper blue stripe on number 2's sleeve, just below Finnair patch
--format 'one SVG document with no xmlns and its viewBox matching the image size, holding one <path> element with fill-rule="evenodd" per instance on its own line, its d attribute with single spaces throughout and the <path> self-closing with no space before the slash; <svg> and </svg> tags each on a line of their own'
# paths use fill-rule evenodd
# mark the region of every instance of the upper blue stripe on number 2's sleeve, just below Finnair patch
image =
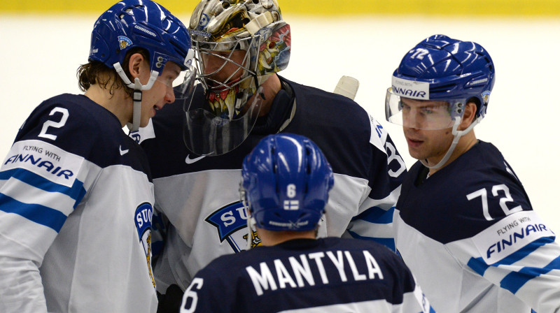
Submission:
<svg viewBox="0 0 560 313">
<path fill-rule="evenodd" d="M 76 205 L 78 205 L 78 203 L 80 203 L 82 198 L 85 196 L 83 182 L 80 182 L 79 180 L 74 180 L 72 187 L 69 188 L 66 186 L 62 186 L 61 184 L 53 183 L 52 181 L 24 168 L 14 168 L 13 170 L 4 170 L 0 172 L 0 180 L 8 180 L 10 177 L 21 180 L 26 184 L 30 184 L 31 186 L 44 191 L 59 192 L 60 194 L 65 194 L 66 196 L 69 196 L 76 201 L 76 203 L 74 203 L 73 205 L 73 208 L 76 208 Z"/>
</svg>

